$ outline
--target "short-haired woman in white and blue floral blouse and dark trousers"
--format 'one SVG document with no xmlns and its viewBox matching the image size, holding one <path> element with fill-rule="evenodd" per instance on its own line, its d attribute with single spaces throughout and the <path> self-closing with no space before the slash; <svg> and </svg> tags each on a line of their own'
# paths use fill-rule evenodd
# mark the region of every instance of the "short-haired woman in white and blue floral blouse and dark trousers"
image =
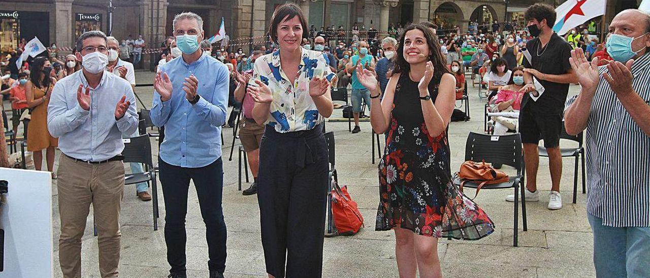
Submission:
<svg viewBox="0 0 650 278">
<path fill-rule="evenodd" d="M 294 4 L 275 10 L 269 33 L 279 49 L 255 60 L 248 83 L 253 119 L 266 125 L 257 199 L 269 277 L 322 274 L 329 172 L 322 123 L 333 110 L 335 75 L 321 52 L 300 47 L 306 22 Z"/>
</svg>

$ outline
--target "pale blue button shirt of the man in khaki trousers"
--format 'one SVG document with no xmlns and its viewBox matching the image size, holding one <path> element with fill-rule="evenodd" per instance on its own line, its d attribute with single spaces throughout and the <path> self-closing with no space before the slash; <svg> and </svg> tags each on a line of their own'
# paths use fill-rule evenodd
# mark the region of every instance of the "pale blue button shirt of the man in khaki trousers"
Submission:
<svg viewBox="0 0 650 278">
<path fill-rule="evenodd" d="M 79 84 L 88 86 L 83 70 L 61 79 L 52 90 L 47 107 L 47 129 L 59 138 L 59 149 L 68 157 L 102 161 L 122 153 L 122 134 L 138 130 L 135 95 L 128 81 L 104 71 L 97 88 L 90 88 L 90 110 L 77 101 Z M 120 120 L 115 107 L 126 95 L 131 106 Z"/>
</svg>

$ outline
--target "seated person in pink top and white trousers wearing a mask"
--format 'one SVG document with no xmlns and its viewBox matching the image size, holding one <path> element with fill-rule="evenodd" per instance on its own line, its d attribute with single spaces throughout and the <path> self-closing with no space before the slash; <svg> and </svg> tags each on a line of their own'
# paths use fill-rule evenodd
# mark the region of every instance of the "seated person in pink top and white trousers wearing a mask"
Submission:
<svg viewBox="0 0 650 278">
<path fill-rule="evenodd" d="M 493 112 L 519 112 L 521 109 L 521 98 L 525 93 L 519 92 L 524 85 L 524 68 L 517 67 L 513 69 L 512 77 L 506 86 L 502 86 L 497 93 Z M 494 121 L 494 134 L 503 135 L 508 130 L 517 130 L 519 118 L 497 116 L 492 117 Z"/>
</svg>

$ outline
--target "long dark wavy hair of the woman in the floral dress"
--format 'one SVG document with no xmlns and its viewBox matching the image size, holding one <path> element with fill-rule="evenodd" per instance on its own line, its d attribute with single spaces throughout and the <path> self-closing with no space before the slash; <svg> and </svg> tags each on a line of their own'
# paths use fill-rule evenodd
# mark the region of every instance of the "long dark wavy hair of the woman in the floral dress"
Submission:
<svg viewBox="0 0 650 278">
<path fill-rule="evenodd" d="M 434 64 L 434 77 L 431 80 L 440 80 L 443 74 L 451 73 L 450 69 L 447 68 L 447 60 L 443 59 L 443 55 L 440 52 L 440 43 L 437 40 L 437 36 L 435 36 L 434 32 L 431 31 L 429 27 L 421 24 L 408 25 L 408 27 L 404 29 L 404 32 L 402 32 L 402 36 L 400 36 L 400 40 L 397 44 L 394 72 L 408 74 L 409 71 L 411 71 L 411 65 L 406 62 L 406 59 L 404 58 L 404 38 L 408 31 L 415 29 L 422 31 L 422 34 L 424 34 L 424 38 L 426 39 L 426 44 L 429 47 L 429 60 Z"/>
</svg>

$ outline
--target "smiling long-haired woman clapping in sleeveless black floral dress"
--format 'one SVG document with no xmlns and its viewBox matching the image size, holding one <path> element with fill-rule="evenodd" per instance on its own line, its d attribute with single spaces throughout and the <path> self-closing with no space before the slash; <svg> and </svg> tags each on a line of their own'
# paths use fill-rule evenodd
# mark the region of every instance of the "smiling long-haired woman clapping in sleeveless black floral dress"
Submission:
<svg viewBox="0 0 650 278">
<path fill-rule="evenodd" d="M 441 277 L 437 239 L 476 240 L 491 234 L 485 212 L 452 183 L 447 125 L 456 80 L 433 32 L 410 25 L 402 34 L 395 73 L 379 102 L 374 74 L 357 68 L 370 90 L 372 128 L 388 131 L 379 164 L 380 205 L 376 231 L 395 231 L 400 277 Z M 372 106 L 371 105 L 371 106 Z"/>
</svg>

